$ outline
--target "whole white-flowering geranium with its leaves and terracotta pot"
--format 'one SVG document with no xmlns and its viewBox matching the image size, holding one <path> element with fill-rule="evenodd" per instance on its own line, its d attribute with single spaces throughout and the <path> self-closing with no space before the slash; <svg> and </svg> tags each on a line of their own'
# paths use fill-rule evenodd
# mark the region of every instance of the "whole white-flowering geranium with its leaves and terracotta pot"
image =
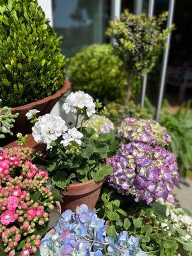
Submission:
<svg viewBox="0 0 192 256">
<path fill-rule="evenodd" d="M 50 114 L 37 118 L 36 111 L 27 114 L 35 122 L 34 140 L 46 145 L 44 158 L 37 163 L 49 171 L 52 184 L 65 195 L 63 211 L 75 211 L 83 203 L 90 209 L 95 207 L 104 180 L 113 172 L 107 157 L 116 152 L 115 132 L 99 135 L 94 129 L 84 127 L 99 106 L 90 95 L 79 91 L 70 93 L 63 104 L 66 114 L 75 115 L 74 123 L 66 124 L 60 116 Z"/>
</svg>

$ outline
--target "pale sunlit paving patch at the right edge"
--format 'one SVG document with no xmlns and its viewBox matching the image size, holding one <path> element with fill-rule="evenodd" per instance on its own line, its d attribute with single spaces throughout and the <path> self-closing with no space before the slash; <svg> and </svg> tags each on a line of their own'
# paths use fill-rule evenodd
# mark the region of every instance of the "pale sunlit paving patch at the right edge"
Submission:
<svg viewBox="0 0 192 256">
<path fill-rule="evenodd" d="M 179 204 L 192 212 L 192 180 L 180 179 L 180 182 L 173 190 Z"/>
</svg>

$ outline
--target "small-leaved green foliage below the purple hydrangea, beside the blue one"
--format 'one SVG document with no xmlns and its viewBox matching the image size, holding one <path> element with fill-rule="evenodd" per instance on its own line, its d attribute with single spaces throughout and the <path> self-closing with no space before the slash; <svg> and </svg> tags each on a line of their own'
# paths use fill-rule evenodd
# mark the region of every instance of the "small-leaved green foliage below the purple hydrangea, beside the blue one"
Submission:
<svg viewBox="0 0 192 256">
<path fill-rule="evenodd" d="M 116 232 L 127 230 L 140 237 L 140 247 L 151 256 L 192 255 L 191 239 L 184 240 L 186 230 L 173 228 L 165 205 L 156 202 L 147 206 L 127 197 L 108 190 L 101 195 L 99 216 L 107 221 L 110 236 L 115 238 Z"/>
</svg>

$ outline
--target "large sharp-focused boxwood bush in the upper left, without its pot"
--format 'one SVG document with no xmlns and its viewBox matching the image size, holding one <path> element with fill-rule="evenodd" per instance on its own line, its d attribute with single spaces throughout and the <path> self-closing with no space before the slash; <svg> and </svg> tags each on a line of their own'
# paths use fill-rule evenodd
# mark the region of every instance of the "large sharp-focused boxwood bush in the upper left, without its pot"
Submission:
<svg viewBox="0 0 192 256">
<path fill-rule="evenodd" d="M 0 0 L 0 98 L 21 106 L 60 90 L 66 59 L 36 0 Z"/>
</svg>

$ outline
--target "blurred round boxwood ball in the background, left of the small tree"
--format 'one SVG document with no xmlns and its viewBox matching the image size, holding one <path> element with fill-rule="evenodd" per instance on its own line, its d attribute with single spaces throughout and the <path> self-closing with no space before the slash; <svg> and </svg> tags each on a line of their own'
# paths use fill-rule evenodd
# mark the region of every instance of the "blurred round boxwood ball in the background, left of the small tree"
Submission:
<svg viewBox="0 0 192 256">
<path fill-rule="evenodd" d="M 83 90 L 102 102 L 123 100 L 126 75 L 111 45 L 91 45 L 71 58 L 68 76 L 72 90 Z"/>
</svg>

